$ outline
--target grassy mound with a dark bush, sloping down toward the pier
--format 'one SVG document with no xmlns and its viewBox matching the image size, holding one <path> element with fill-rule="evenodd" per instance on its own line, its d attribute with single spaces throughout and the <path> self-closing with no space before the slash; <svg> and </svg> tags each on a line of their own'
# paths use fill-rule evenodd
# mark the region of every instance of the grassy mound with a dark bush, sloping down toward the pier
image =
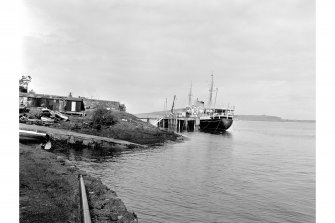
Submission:
<svg viewBox="0 0 335 223">
<path fill-rule="evenodd" d="M 161 130 L 132 114 L 105 109 L 88 111 L 85 117 L 70 117 L 70 121 L 61 121 L 51 127 L 143 145 L 161 144 L 180 139 L 177 134 Z"/>
</svg>

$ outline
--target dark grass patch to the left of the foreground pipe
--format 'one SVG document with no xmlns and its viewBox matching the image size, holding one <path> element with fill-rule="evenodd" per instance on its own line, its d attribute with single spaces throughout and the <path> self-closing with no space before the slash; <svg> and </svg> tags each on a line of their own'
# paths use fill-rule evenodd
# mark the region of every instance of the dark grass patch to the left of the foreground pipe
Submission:
<svg viewBox="0 0 335 223">
<path fill-rule="evenodd" d="M 53 166 L 20 150 L 20 222 L 79 221 L 78 189 Z"/>
</svg>

